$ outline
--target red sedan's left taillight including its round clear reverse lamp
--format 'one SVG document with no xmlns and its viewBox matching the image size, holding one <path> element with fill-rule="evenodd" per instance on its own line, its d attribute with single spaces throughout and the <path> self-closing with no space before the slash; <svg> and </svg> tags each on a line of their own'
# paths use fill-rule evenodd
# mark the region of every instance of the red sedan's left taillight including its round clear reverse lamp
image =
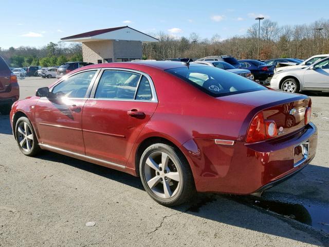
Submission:
<svg viewBox="0 0 329 247">
<path fill-rule="evenodd" d="M 278 135 L 276 122 L 264 120 L 263 112 L 258 113 L 251 121 L 246 142 L 255 143 L 270 139 Z"/>
</svg>

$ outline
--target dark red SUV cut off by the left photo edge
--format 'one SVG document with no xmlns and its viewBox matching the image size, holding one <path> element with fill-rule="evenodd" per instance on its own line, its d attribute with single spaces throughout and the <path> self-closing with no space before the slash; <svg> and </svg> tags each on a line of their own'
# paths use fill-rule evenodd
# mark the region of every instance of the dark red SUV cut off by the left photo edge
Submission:
<svg viewBox="0 0 329 247">
<path fill-rule="evenodd" d="M 0 56 L 0 112 L 9 114 L 13 102 L 20 98 L 20 87 L 17 77 Z"/>
</svg>

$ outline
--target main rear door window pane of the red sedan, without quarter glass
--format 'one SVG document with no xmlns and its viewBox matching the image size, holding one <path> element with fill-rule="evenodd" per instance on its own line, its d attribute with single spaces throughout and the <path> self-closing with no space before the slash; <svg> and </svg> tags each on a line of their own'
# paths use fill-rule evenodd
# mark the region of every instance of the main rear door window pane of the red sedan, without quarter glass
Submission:
<svg viewBox="0 0 329 247">
<path fill-rule="evenodd" d="M 95 98 L 134 99 L 140 75 L 121 70 L 105 70 L 98 82 Z"/>
</svg>

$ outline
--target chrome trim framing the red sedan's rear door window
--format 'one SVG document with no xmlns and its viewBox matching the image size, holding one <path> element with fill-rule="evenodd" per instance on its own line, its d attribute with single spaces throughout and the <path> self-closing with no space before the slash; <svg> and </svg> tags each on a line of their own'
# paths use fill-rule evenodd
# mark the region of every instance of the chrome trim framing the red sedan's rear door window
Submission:
<svg viewBox="0 0 329 247">
<path fill-rule="evenodd" d="M 136 87 L 136 92 L 135 92 L 135 96 L 134 96 L 135 98 L 136 98 L 136 93 L 138 91 L 139 82 L 140 82 L 142 76 L 145 76 L 148 79 L 149 83 L 150 83 L 152 98 L 150 100 L 144 100 L 144 99 L 95 98 L 95 94 L 96 94 L 96 90 L 97 90 L 97 86 L 98 86 L 99 80 L 102 77 L 104 71 L 106 71 L 106 70 L 120 70 L 120 71 L 126 71 L 126 72 L 131 72 L 131 73 L 135 73 L 135 74 L 141 75 L 140 78 L 139 78 L 139 81 L 138 81 L 138 85 Z M 101 71 L 99 72 L 99 74 L 97 76 L 97 80 L 94 83 L 94 86 L 93 86 L 93 89 L 92 89 L 92 93 L 90 94 L 89 99 L 90 100 L 112 100 L 112 101 L 114 100 L 114 101 L 158 102 L 158 97 L 157 97 L 157 94 L 156 94 L 156 91 L 155 91 L 153 80 L 152 80 L 152 78 L 148 74 L 146 74 L 144 72 L 141 72 L 140 70 L 135 70 L 135 69 L 130 69 L 130 68 L 115 68 L 115 67 L 112 67 L 112 68 L 101 68 Z"/>
</svg>

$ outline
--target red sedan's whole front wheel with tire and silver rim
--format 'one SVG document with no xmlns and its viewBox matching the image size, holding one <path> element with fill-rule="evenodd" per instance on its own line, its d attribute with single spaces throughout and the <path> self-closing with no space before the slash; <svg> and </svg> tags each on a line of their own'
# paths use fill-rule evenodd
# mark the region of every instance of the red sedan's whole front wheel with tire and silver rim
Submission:
<svg viewBox="0 0 329 247">
<path fill-rule="evenodd" d="M 23 154 L 35 156 L 41 149 L 35 131 L 27 117 L 20 117 L 15 125 L 16 141 Z"/>
</svg>

